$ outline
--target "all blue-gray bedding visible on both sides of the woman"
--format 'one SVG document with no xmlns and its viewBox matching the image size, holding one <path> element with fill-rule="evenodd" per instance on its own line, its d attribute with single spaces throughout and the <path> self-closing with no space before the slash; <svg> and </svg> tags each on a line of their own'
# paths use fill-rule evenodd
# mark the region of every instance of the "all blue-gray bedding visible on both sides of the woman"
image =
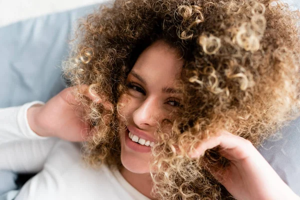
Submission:
<svg viewBox="0 0 300 200">
<path fill-rule="evenodd" d="M 53 13 L 0 28 L 0 107 L 47 101 L 65 87 L 61 61 L 68 55 L 75 20 L 97 5 Z M 283 138 L 259 148 L 280 177 L 300 195 L 300 118 L 284 127 Z M 0 200 L 16 194 L 15 174 L 0 171 Z M 10 190 L 10 193 L 4 193 Z M 2 194 L 2 195 L 1 195 Z M 9 194 L 9 195 L 8 195 Z"/>
</svg>

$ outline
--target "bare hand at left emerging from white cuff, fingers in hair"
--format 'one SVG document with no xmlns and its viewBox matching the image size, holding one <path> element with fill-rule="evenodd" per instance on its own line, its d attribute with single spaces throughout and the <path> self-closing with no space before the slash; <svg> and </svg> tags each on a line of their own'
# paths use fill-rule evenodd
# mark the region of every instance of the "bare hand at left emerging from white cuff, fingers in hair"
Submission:
<svg viewBox="0 0 300 200">
<path fill-rule="evenodd" d="M 72 87 L 65 88 L 44 105 L 36 104 L 27 110 L 29 126 L 36 134 L 55 136 L 69 141 L 86 139 L 90 124 L 83 121 L 82 116 L 86 110 L 75 100 L 71 93 L 72 89 Z M 82 85 L 80 89 L 84 91 L 84 96 L 101 103 L 101 99 L 88 92 L 88 85 Z M 111 105 L 105 103 L 105 106 Z"/>
</svg>

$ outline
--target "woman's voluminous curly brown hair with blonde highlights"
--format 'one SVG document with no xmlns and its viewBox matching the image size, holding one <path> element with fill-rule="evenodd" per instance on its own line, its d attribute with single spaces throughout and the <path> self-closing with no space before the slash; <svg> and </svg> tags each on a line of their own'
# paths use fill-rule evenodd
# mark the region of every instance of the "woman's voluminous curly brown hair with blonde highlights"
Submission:
<svg viewBox="0 0 300 200">
<path fill-rule="evenodd" d="M 183 106 L 161 122 L 152 147 L 153 195 L 158 199 L 230 199 L 209 166 L 228 160 L 210 149 L 188 157 L 218 130 L 254 146 L 299 115 L 299 12 L 274 0 L 116 0 L 79 22 L 64 77 L 89 109 L 96 131 L 88 161 L 121 166 L 118 99 L 146 46 L 163 39 L 184 58 Z M 113 106 L 85 98 L 80 85 Z M 163 128 L 168 127 L 168 128 Z M 188 147 L 186 147 L 188 144 Z M 175 152 L 174 145 L 180 153 Z"/>
</svg>

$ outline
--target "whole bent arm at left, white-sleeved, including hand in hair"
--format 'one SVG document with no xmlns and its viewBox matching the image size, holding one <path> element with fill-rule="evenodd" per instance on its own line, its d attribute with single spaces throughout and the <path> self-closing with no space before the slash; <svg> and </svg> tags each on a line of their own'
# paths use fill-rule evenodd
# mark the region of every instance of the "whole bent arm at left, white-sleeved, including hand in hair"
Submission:
<svg viewBox="0 0 300 200">
<path fill-rule="evenodd" d="M 65 88 L 46 103 L 33 101 L 0 110 L 0 169 L 40 170 L 57 137 L 82 141 L 88 136 L 90 125 L 82 120 L 85 110 L 71 91 L 71 87 Z"/>
</svg>

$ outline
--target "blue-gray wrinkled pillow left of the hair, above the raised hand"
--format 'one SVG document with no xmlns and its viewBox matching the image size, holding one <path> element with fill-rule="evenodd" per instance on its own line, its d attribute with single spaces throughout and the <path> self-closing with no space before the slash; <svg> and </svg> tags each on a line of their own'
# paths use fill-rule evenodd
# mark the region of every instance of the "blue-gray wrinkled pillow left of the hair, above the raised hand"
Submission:
<svg viewBox="0 0 300 200">
<path fill-rule="evenodd" d="M 47 101 L 65 87 L 61 61 L 76 19 L 96 5 L 53 13 L 0 28 L 0 107 Z"/>
</svg>

